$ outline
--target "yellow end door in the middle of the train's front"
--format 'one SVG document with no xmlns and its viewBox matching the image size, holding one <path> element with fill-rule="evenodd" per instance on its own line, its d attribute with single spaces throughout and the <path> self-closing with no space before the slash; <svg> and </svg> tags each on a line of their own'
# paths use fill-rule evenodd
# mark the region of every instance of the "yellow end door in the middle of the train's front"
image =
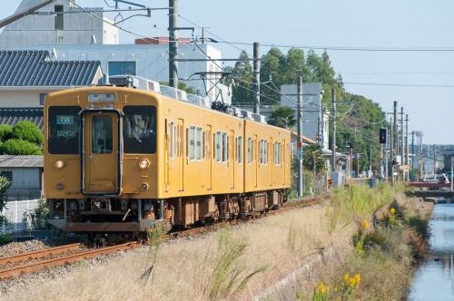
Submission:
<svg viewBox="0 0 454 301">
<path fill-rule="evenodd" d="M 120 194 L 120 118 L 115 112 L 83 111 L 82 192 Z"/>
</svg>

